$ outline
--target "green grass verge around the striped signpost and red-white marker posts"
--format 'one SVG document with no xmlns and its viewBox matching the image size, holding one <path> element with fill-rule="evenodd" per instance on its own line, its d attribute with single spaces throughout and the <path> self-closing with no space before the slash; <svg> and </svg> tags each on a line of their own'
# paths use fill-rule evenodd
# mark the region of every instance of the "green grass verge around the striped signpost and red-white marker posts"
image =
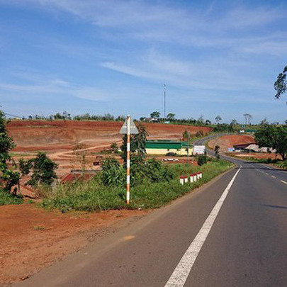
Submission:
<svg viewBox="0 0 287 287">
<path fill-rule="evenodd" d="M 170 201 L 183 196 L 194 188 L 197 188 L 215 176 L 233 167 L 230 162 L 212 160 L 201 167 L 189 164 L 172 164 L 168 166 L 174 173 L 174 179 L 168 182 L 151 183 L 143 181 L 134 186 L 130 191 L 130 205 L 125 204 L 125 187 L 104 186 L 100 177 L 95 176 L 90 181 L 77 181 L 72 184 L 60 184 L 57 190 L 45 198 L 42 206 L 45 208 L 57 208 L 62 212 L 69 210 L 111 210 L 111 209 L 147 209 L 159 208 Z M 179 176 L 191 174 L 196 171 L 203 172 L 203 178 L 193 184 L 179 184 Z"/>
</svg>

